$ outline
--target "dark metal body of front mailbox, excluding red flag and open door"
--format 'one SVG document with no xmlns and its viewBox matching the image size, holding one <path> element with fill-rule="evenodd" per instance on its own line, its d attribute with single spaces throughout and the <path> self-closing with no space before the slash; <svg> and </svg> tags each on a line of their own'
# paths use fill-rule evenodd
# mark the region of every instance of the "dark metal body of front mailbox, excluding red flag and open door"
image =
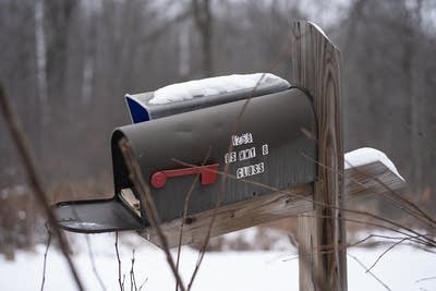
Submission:
<svg viewBox="0 0 436 291">
<path fill-rule="evenodd" d="M 132 186 L 118 149 L 121 137 L 130 141 L 146 182 L 158 171 L 219 165 L 213 184 L 182 175 L 152 187 L 161 220 L 169 221 L 182 216 L 194 181 L 189 214 L 314 182 L 317 150 L 310 135 L 317 136 L 315 114 L 310 98 L 296 88 L 246 105 L 234 101 L 123 126 L 112 136 L 116 193 Z"/>
</svg>

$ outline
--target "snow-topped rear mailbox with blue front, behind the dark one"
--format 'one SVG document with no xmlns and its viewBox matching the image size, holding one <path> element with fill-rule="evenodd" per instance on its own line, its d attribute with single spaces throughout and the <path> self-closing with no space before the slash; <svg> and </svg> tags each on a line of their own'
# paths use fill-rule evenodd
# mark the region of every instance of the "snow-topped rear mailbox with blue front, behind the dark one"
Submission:
<svg viewBox="0 0 436 291">
<path fill-rule="evenodd" d="M 289 88 L 288 81 L 274 74 L 234 74 L 173 84 L 155 92 L 128 94 L 125 100 L 133 123 L 137 123 Z"/>
</svg>

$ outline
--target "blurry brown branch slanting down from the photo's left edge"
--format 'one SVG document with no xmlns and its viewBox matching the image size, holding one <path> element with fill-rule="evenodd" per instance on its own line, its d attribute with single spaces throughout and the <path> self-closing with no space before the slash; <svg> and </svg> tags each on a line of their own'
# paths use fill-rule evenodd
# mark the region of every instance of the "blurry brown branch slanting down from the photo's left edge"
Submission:
<svg viewBox="0 0 436 291">
<path fill-rule="evenodd" d="M 47 221 L 50 226 L 50 229 L 52 230 L 55 237 L 59 241 L 59 246 L 61 248 L 61 252 L 66 259 L 66 263 L 69 265 L 70 271 L 73 275 L 74 282 L 77 286 L 77 289 L 80 291 L 83 291 L 83 284 L 82 281 L 78 277 L 77 270 L 74 267 L 74 263 L 70 257 L 69 254 L 69 244 L 63 237 L 61 230 L 58 227 L 56 217 L 49 206 L 49 202 L 47 199 L 47 194 L 43 187 L 43 180 L 39 177 L 39 172 L 35 166 L 34 157 L 31 150 L 31 147 L 28 146 L 28 142 L 26 138 L 26 135 L 24 134 L 23 130 L 19 125 L 19 121 L 15 117 L 15 114 L 12 111 L 12 108 L 8 101 L 8 98 L 4 94 L 3 87 L 0 84 L 0 110 L 4 117 L 4 121 L 7 124 L 7 128 L 9 129 L 9 132 L 12 136 L 12 141 L 15 143 L 16 149 L 19 151 L 19 155 L 22 159 L 24 169 L 27 174 L 28 183 L 29 186 L 32 187 L 37 202 L 39 203 L 40 207 L 43 208 L 44 214 L 47 217 Z"/>
</svg>

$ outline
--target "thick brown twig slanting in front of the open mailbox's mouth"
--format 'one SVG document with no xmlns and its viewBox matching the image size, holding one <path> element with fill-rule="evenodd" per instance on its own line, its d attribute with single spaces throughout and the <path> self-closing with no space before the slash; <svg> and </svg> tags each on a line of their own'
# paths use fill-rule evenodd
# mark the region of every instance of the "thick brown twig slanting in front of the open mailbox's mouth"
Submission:
<svg viewBox="0 0 436 291">
<path fill-rule="evenodd" d="M 152 227 L 156 230 L 156 232 L 158 234 L 160 244 L 162 245 L 162 250 L 167 256 L 167 262 L 170 265 L 172 274 L 174 275 L 177 282 L 179 283 L 180 289 L 182 291 L 186 291 L 186 289 L 183 284 L 183 281 L 181 279 L 178 270 L 175 269 L 175 264 L 170 254 L 167 238 L 165 237 L 165 234 L 160 228 L 160 218 L 158 216 L 158 211 L 157 211 L 155 202 L 150 194 L 149 186 L 144 181 L 140 165 L 137 163 L 137 161 L 135 160 L 135 158 L 133 156 L 132 148 L 125 138 L 122 138 L 119 142 L 119 147 L 121 149 L 121 153 L 124 157 L 125 165 L 129 170 L 129 179 L 133 183 L 135 190 L 138 192 L 142 205 L 144 205 L 146 207 L 147 218 L 148 218 Z"/>
</svg>

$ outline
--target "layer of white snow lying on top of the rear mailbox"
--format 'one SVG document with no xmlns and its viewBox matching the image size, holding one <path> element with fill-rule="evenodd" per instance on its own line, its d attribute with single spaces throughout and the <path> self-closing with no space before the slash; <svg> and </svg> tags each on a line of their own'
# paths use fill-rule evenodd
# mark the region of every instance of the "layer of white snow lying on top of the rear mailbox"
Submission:
<svg viewBox="0 0 436 291">
<path fill-rule="evenodd" d="M 288 81 L 270 73 L 233 74 L 172 84 L 157 89 L 148 102 L 150 105 L 166 105 L 190 100 L 194 97 L 207 97 L 255 89 L 265 84 L 274 84 L 283 88 L 291 86 Z"/>
</svg>

